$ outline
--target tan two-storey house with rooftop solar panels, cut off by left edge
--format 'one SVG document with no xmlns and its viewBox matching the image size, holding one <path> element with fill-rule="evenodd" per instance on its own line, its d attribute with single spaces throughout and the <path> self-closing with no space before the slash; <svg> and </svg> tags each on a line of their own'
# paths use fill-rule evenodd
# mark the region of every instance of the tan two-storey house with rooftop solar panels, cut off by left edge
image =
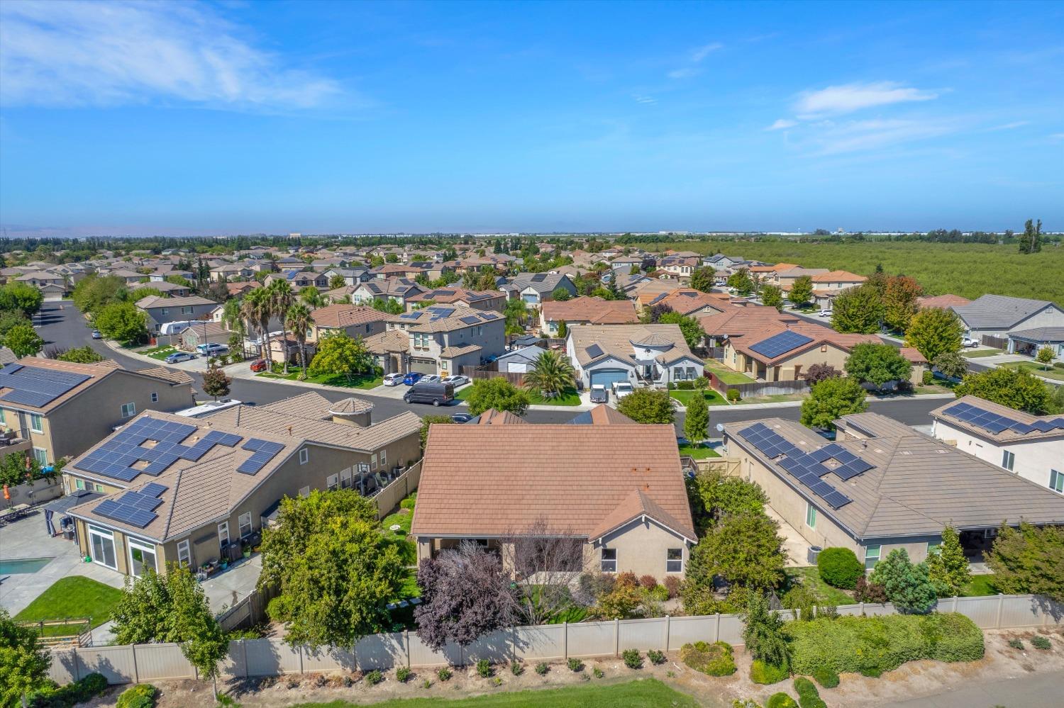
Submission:
<svg viewBox="0 0 1064 708">
<path fill-rule="evenodd" d="M 24 357 L 0 369 L 0 415 L 41 465 L 80 455 L 142 410 L 194 405 L 192 377 L 156 367 L 129 371 L 111 359 L 73 364 Z"/>
</svg>

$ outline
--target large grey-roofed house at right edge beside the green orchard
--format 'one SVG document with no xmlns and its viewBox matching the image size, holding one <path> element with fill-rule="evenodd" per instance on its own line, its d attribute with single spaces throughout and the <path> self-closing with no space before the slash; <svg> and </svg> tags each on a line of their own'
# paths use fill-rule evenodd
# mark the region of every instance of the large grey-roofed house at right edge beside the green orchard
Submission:
<svg viewBox="0 0 1064 708">
<path fill-rule="evenodd" d="M 1031 353 L 1031 340 L 1042 334 L 1035 330 L 1064 327 L 1064 309 L 1047 300 L 984 294 L 967 305 L 954 306 L 953 311 L 964 323 L 965 336 L 976 341 L 983 337 L 1008 339 L 1010 354 Z"/>
</svg>

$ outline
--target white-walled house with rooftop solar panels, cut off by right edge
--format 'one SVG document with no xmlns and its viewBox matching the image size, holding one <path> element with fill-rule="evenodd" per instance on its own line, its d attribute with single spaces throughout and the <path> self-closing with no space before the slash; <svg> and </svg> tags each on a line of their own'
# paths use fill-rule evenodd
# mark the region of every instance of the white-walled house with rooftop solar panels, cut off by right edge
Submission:
<svg viewBox="0 0 1064 708">
<path fill-rule="evenodd" d="M 1032 416 L 965 395 L 931 418 L 931 434 L 943 442 L 1064 493 L 1064 416 Z"/>
</svg>

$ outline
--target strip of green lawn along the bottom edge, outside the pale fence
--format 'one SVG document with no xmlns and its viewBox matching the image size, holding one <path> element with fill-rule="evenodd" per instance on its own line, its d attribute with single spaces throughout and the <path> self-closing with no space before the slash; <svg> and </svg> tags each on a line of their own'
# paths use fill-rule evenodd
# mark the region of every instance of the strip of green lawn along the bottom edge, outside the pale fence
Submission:
<svg viewBox="0 0 1064 708">
<path fill-rule="evenodd" d="M 429 673 L 429 672 L 422 672 Z M 509 673 L 509 672 L 508 672 Z M 503 682 L 505 682 L 503 678 Z M 487 686 L 487 681 L 484 681 Z M 430 689 L 433 690 L 433 689 Z M 654 678 L 644 678 L 612 686 L 585 685 L 569 688 L 494 693 L 475 698 L 395 698 L 375 703 L 377 708 L 698 708 L 698 702 L 675 691 Z M 303 703 L 296 708 L 354 708 L 346 701 Z"/>
</svg>

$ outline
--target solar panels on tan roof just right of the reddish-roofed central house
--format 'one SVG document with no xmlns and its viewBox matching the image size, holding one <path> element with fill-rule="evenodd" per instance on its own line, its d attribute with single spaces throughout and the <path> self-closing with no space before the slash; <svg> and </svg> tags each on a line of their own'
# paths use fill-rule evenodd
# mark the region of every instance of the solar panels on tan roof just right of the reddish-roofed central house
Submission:
<svg viewBox="0 0 1064 708">
<path fill-rule="evenodd" d="M 820 477 L 831 473 L 845 482 L 875 467 L 834 442 L 805 453 L 764 423 L 754 423 L 746 428 L 743 431 L 743 437 L 770 459 L 783 455 L 779 466 L 809 487 L 833 509 L 839 509 L 853 500 Z M 838 466 L 834 469 L 829 468 L 824 463 L 829 459 L 834 459 Z"/>
</svg>

